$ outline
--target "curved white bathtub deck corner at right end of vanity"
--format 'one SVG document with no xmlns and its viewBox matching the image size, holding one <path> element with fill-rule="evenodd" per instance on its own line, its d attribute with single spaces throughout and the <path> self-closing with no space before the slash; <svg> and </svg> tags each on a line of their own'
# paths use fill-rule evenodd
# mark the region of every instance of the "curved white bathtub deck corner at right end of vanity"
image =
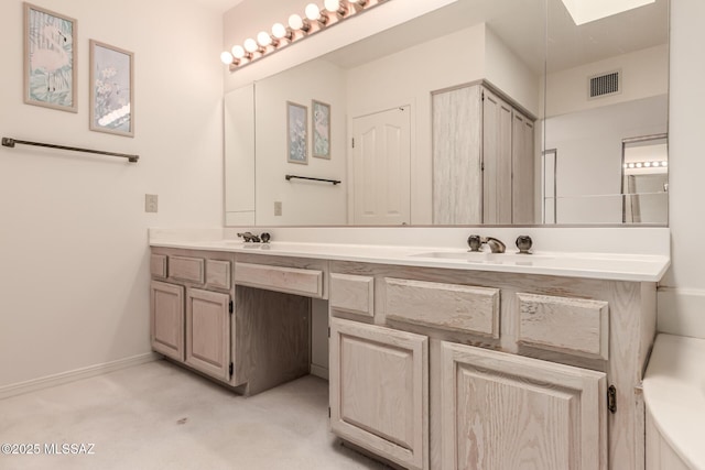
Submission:
<svg viewBox="0 0 705 470">
<path fill-rule="evenodd" d="M 705 340 L 659 335 L 643 379 L 654 425 L 694 469 L 705 469 Z"/>
</svg>

